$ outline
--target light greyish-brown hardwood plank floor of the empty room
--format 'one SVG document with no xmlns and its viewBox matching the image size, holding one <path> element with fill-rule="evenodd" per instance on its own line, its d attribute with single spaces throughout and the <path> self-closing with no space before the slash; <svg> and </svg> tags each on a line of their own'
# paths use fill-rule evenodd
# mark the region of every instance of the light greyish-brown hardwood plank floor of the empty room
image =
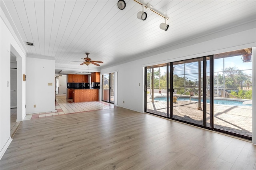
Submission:
<svg viewBox="0 0 256 170">
<path fill-rule="evenodd" d="M 23 121 L 1 170 L 256 169 L 256 146 L 124 108 Z"/>
</svg>

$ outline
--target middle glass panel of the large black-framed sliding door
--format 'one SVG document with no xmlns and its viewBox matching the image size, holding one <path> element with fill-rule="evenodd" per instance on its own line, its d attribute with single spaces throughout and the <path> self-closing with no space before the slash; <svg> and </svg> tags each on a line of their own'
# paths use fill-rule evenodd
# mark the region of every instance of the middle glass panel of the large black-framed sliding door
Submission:
<svg viewBox="0 0 256 170">
<path fill-rule="evenodd" d="M 173 119 L 210 126 L 204 112 L 204 65 L 203 57 L 173 63 Z"/>
</svg>

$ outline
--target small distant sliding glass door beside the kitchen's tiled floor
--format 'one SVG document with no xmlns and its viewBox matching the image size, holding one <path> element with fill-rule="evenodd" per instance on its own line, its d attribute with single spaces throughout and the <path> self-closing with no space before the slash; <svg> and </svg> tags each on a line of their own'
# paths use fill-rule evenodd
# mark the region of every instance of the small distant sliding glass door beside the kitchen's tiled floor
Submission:
<svg viewBox="0 0 256 170">
<path fill-rule="evenodd" d="M 102 101 L 114 103 L 114 73 L 102 75 Z"/>
</svg>

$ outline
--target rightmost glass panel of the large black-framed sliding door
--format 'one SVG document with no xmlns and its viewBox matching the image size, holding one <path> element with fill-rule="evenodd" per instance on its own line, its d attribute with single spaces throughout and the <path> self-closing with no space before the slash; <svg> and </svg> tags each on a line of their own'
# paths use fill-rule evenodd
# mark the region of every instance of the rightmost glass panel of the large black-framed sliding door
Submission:
<svg viewBox="0 0 256 170">
<path fill-rule="evenodd" d="M 252 48 L 214 55 L 214 128 L 252 137 Z"/>
</svg>

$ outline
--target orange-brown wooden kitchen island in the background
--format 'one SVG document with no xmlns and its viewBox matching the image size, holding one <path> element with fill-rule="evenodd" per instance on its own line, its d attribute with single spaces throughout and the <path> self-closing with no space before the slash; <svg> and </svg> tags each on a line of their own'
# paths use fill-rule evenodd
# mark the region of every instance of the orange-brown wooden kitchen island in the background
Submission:
<svg viewBox="0 0 256 170">
<path fill-rule="evenodd" d="M 74 89 L 73 102 L 98 101 L 100 89 Z"/>
</svg>

